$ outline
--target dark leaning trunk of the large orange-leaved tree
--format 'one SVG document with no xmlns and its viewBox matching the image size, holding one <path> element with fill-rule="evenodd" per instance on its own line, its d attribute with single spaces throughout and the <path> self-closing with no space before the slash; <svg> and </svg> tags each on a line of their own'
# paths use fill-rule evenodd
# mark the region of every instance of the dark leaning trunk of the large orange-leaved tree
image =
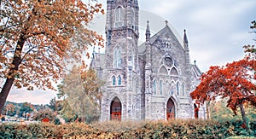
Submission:
<svg viewBox="0 0 256 139">
<path fill-rule="evenodd" d="M 7 96 L 9 95 L 9 90 L 11 89 L 12 85 L 14 84 L 14 81 L 15 81 L 14 72 L 19 70 L 19 66 L 21 63 L 21 51 L 22 51 L 25 41 L 26 41 L 25 35 L 24 35 L 24 33 L 21 32 L 19 41 L 16 45 L 14 60 L 12 61 L 12 64 L 15 67 L 10 68 L 9 76 L 11 78 L 6 78 L 6 81 L 3 84 L 3 89 L 1 90 L 1 93 L 0 93 L 0 113 L 2 113 L 2 111 L 3 111 L 5 101 L 7 99 Z"/>
</svg>

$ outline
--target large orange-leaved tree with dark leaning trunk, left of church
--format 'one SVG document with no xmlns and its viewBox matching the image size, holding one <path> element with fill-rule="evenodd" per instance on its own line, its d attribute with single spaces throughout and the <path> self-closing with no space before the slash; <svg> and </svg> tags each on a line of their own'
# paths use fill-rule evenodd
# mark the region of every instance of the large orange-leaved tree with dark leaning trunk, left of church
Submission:
<svg viewBox="0 0 256 139">
<path fill-rule="evenodd" d="M 102 36 L 84 27 L 96 13 L 103 13 L 102 4 L 1 0 L 0 5 L 0 113 L 13 84 L 28 90 L 54 89 L 64 60 L 79 61 L 80 52 L 90 45 L 102 46 Z M 83 42 L 72 39 L 78 32 Z"/>
</svg>

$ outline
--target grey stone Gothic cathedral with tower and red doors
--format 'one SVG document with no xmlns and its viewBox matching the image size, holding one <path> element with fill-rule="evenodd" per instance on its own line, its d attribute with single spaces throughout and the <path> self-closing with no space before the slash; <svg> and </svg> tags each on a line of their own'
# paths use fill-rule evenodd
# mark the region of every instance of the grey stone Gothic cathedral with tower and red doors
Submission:
<svg viewBox="0 0 256 139">
<path fill-rule="evenodd" d="M 94 51 L 90 62 L 105 83 L 100 119 L 204 119 L 189 96 L 201 71 L 190 63 L 186 31 L 181 42 L 167 21 L 155 34 L 148 21 L 138 45 L 138 13 L 137 0 L 107 0 L 105 53 Z"/>
</svg>

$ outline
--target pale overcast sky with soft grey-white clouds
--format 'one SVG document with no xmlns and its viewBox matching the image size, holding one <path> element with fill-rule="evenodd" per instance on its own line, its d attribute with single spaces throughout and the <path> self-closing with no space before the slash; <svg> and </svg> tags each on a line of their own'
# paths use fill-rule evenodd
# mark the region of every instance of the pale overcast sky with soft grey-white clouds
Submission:
<svg viewBox="0 0 256 139">
<path fill-rule="evenodd" d="M 106 9 L 106 0 L 99 2 Z M 255 0 L 138 0 L 138 3 L 143 12 L 140 14 L 143 16 L 140 18 L 140 34 L 145 33 L 146 20 L 149 20 L 152 35 L 165 26 L 164 20 L 168 20 L 181 37 L 186 29 L 190 60 L 196 60 L 202 72 L 207 72 L 210 66 L 241 59 L 244 55 L 242 46 L 255 44 L 253 34 L 249 33 L 251 21 L 256 20 Z M 102 20 L 101 16 L 98 18 Z M 96 21 L 93 25 L 96 24 L 102 26 L 96 28 L 103 33 L 105 22 Z M 55 94 L 44 90 L 11 90 L 8 100 L 46 104 Z"/>
</svg>

